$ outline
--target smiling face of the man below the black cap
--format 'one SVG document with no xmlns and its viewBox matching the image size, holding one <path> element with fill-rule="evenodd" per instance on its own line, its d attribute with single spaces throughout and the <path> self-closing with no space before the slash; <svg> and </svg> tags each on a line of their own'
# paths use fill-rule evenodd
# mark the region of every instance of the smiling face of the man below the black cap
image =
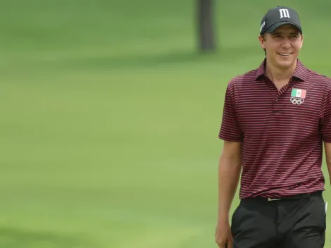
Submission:
<svg viewBox="0 0 331 248">
<path fill-rule="evenodd" d="M 277 68 L 286 69 L 292 66 L 299 55 L 304 37 L 299 30 L 290 24 L 278 27 L 264 37 L 258 37 L 266 57 Z"/>
</svg>

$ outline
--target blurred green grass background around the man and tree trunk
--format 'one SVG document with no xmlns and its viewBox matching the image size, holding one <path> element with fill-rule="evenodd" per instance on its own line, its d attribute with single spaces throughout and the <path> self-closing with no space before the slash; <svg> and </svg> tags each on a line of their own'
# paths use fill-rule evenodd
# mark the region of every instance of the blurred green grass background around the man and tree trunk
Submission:
<svg viewBox="0 0 331 248">
<path fill-rule="evenodd" d="M 216 247 L 225 87 L 284 4 L 301 61 L 331 76 L 328 0 L 216 1 L 213 54 L 196 1 L 2 1 L 0 247 Z"/>
</svg>

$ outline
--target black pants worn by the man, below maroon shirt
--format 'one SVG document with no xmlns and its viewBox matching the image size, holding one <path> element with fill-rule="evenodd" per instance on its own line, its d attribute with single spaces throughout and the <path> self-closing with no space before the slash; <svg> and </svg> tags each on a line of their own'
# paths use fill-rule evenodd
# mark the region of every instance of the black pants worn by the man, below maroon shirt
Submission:
<svg viewBox="0 0 331 248">
<path fill-rule="evenodd" d="M 242 199 L 232 216 L 233 248 L 322 248 L 323 196 L 308 199 Z"/>
</svg>

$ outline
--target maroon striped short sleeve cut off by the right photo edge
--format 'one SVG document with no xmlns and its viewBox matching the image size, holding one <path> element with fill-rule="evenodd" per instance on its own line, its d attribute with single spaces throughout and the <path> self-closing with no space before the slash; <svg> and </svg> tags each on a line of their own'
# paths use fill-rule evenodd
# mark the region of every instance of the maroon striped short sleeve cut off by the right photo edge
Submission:
<svg viewBox="0 0 331 248">
<path fill-rule="evenodd" d="M 324 142 L 331 142 L 331 89 L 323 99 L 320 111 L 320 132 Z"/>
</svg>

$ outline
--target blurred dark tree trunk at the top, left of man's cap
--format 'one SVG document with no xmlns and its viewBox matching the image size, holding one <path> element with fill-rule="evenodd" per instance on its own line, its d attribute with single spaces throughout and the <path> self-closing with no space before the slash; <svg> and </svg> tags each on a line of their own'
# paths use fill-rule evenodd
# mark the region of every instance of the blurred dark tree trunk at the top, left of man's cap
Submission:
<svg viewBox="0 0 331 248">
<path fill-rule="evenodd" d="M 202 51 L 215 49 L 213 33 L 213 0 L 197 0 L 199 48 Z"/>
</svg>

